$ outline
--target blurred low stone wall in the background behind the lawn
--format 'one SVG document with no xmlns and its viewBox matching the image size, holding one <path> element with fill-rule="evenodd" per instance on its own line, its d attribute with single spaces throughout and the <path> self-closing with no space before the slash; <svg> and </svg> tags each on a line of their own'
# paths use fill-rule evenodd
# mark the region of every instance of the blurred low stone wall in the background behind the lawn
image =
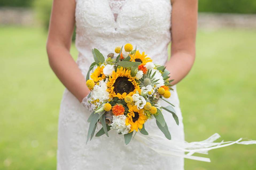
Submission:
<svg viewBox="0 0 256 170">
<path fill-rule="evenodd" d="M 31 9 L 1 7 L 0 25 L 32 26 L 36 17 Z M 199 28 L 242 27 L 256 28 L 256 14 L 199 13 Z"/>
</svg>

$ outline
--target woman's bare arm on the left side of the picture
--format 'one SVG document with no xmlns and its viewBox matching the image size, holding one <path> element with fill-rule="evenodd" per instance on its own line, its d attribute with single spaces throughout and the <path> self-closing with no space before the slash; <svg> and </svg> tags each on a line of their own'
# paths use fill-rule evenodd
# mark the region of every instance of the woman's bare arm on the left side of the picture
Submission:
<svg viewBox="0 0 256 170">
<path fill-rule="evenodd" d="M 52 70 L 81 102 L 89 90 L 85 78 L 69 53 L 75 25 L 75 6 L 75 0 L 53 1 L 46 48 Z"/>
</svg>

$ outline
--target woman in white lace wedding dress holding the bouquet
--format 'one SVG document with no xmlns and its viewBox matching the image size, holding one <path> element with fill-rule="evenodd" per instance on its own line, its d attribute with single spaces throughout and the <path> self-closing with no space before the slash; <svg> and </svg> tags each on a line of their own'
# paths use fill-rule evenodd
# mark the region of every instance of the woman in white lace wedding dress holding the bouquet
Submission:
<svg viewBox="0 0 256 170">
<path fill-rule="evenodd" d="M 75 25 L 76 48 L 79 51 L 76 62 L 69 53 Z M 175 86 L 193 65 L 196 27 L 197 0 L 53 0 L 47 52 L 51 68 L 66 87 L 59 115 L 58 170 L 182 170 L 183 157 L 197 159 L 191 156 L 194 152 L 207 151 L 192 147 L 192 143 L 184 141 L 182 115 Z M 170 41 L 171 58 L 168 60 Z M 89 93 L 85 76 L 94 61 L 91 49 L 97 48 L 107 56 L 117 45 L 126 43 L 137 45 L 154 63 L 166 65 L 171 72 L 174 91 L 168 100 L 176 106 L 174 109 L 179 118 L 179 126 L 171 114 L 164 111 L 162 113 L 172 134 L 172 140 L 168 142 L 173 144 L 165 145 L 166 141 L 160 140 L 162 132 L 156 128 L 155 122 L 149 121 L 147 131 L 158 136 L 156 141 L 138 138 L 136 135 L 125 146 L 122 135 L 110 131 L 110 138 L 100 136 L 86 145 L 89 127 L 87 119 L 91 111 L 82 101 L 86 101 Z M 162 106 L 165 105 L 168 103 L 163 102 Z M 211 143 L 216 138 L 218 135 L 215 134 L 203 143 L 194 145 L 209 142 L 205 147 L 216 147 L 223 144 Z M 145 143 L 146 141 L 148 142 Z M 182 144 L 190 145 L 181 147 Z M 176 145 L 183 149 L 172 148 Z M 162 146 L 162 149 L 156 146 Z M 176 152 L 166 153 L 167 149 Z M 184 155 L 184 151 L 191 154 Z"/>
</svg>

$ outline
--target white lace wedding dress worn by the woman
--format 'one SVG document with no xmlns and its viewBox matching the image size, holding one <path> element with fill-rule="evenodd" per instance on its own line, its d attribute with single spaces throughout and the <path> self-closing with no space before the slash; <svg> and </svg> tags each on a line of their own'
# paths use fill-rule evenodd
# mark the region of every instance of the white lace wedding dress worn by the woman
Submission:
<svg viewBox="0 0 256 170">
<path fill-rule="evenodd" d="M 137 48 L 141 52 L 145 51 L 154 63 L 164 65 L 168 56 L 167 46 L 171 39 L 171 10 L 170 0 L 76 0 L 76 47 L 79 51 L 77 64 L 83 75 L 86 76 L 90 64 L 94 62 L 92 48 L 99 49 L 107 56 L 116 46 L 126 43 L 137 45 Z M 169 141 L 176 142 L 173 146 L 187 144 L 184 142 L 182 116 L 175 86 L 168 100 L 176 106 L 174 109 L 180 122 L 179 126 L 176 125 L 172 115 L 163 111 L 172 135 L 172 140 Z M 168 104 L 162 101 L 162 105 Z M 167 147 L 160 151 L 150 149 L 165 146 L 166 142 L 163 140 L 163 145 L 158 143 L 164 135 L 154 120 L 148 121 L 145 128 L 149 134 L 157 135 L 158 138 L 154 138 L 155 142 L 143 139 L 144 142 L 148 141 L 143 144 L 139 142 L 142 138 L 136 135 L 125 146 L 123 135 L 110 130 L 109 138 L 106 135 L 94 137 L 86 145 L 89 127 L 87 119 L 90 114 L 68 90 L 65 90 L 59 115 L 58 170 L 184 169 L 183 157 L 186 156 L 183 151 L 187 151 L 184 150 L 186 147 L 182 147 L 183 149 L 179 149 L 175 154 L 170 154 L 183 155 L 179 157 L 164 153 L 163 150 L 167 148 L 172 150 L 172 144 L 167 144 Z M 98 130 L 100 128 L 99 125 Z M 218 135 L 215 135 L 214 139 L 216 137 Z M 209 141 L 213 140 L 209 139 L 207 142 Z M 191 145 L 188 147 L 197 148 Z"/>
</svg>

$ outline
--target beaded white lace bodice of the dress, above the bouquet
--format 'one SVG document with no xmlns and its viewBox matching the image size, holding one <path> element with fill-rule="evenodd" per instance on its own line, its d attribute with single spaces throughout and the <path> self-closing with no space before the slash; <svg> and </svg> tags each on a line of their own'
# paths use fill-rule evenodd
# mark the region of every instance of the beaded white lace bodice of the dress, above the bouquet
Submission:
<svg viewBox="0 0 256 170">
<path fill-rule="evenodd" d="M 170 42 L 170 0 L 76 0 L 77 63 L 85 75 L 92 48 L 104 56 L 131 43 L 164 64 Z"/>
</svg>

